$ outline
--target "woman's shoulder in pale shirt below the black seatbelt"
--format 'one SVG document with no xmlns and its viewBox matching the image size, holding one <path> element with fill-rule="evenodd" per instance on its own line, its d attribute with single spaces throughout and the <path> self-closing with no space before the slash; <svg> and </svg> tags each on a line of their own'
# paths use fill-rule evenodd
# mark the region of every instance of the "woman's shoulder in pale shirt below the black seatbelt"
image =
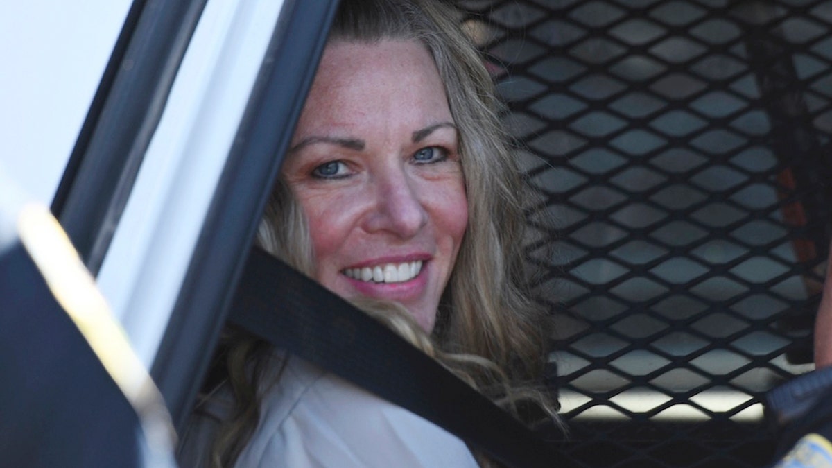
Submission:
<svg viewBox="0 0 832 468">
<path fill-rule="evenodd" d="M 448 431 L 297 358 L 265 392 L 238 462 L 261 465 L 477 466 Z"/>
</svg>

